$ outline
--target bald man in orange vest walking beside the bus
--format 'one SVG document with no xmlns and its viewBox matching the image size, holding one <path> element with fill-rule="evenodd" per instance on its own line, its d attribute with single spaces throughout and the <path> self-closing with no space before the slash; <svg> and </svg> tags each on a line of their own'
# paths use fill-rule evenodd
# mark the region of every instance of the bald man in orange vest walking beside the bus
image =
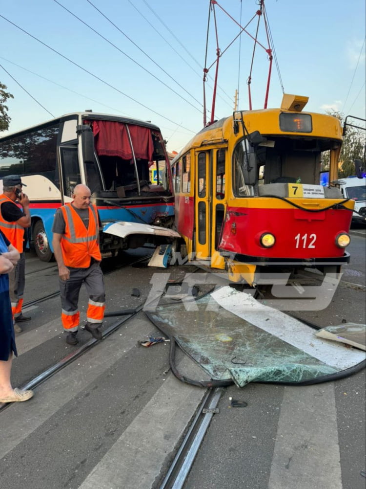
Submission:
<svg viewBox="0 0 366 489">
<path fill-rule="evenodd" d="M 52 226 L 53 250 L 59 267 L 61 320 L 69 345 L 78 344 L 78 302 L 83 283 L 89 295 L 85 329 L 94 338 L 102 339 L 98 328 L 104 317 L 105 289 L 100 267 L 99 215 L 96 206 L 90 203 L 90 195 L 86 185 L 76 185 L 74 200 L 57 210 Z"/>
</svg>

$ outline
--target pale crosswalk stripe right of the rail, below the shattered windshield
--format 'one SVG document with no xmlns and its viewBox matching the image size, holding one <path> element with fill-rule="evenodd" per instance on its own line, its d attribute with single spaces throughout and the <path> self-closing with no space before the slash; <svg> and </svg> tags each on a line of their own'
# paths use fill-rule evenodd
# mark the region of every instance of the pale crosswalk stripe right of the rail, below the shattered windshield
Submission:
<svg viewBox="0 0 366 489">
<path fill-rule="evenodd" d="M 334 383 L 285 387 L 268 489 L 342 489 Z"/>
</svg>

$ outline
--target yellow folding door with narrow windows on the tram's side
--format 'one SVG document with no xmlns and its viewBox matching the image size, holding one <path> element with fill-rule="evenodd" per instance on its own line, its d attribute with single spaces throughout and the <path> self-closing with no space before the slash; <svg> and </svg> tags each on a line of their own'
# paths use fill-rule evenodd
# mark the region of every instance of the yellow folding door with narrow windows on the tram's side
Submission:
<svg viewBox="0 0 366 489">
<path fill-rule="evenodd" d="M 196 258 L 210 267 L 224 268 L 218 244 L 226 206 L 225 149 L 196 151 L 195 158 Z"/>
</svg>

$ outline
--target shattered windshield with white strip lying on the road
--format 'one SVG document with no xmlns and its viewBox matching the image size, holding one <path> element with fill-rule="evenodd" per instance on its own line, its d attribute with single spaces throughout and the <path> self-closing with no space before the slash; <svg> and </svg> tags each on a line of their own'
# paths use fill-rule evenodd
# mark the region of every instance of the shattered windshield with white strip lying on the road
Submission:
<svg viewBox="0 0 366 489">
<path fill-rule="evenodd" d="M 232 379 L 239 387 L 330 380 L 365 361 L 365 352 L 317 337 L 301 321 L 229 286 L 196 298 L 165 295 L 148 316 L 211 379 Z"/>
</svg>

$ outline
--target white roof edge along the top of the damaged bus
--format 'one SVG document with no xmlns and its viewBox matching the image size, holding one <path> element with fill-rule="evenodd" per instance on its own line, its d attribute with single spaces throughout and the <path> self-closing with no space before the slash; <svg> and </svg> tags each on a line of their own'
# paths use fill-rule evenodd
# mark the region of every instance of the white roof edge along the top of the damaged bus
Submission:
<svg viewBox="0 0 366 489">
<path fill-rule="evenodd" d="M 115 114 L 103 114 L 101 112 L 83 111 L 83 112 L 70 112 L 68 114 L 63 114 L 60 115 L 59 117 L 54 117 L 53 119 L 49 119 L 45 122 L 41 122 L 40 124 L 35 124 L 34 126 L 29 126 L 27 128 L 20 129 L 20 131 L 14 131 L 12 133 L 4 134 L 3 136 L 0 137 L 0 141 L 4 141 L 7 138 L 13 137 L 17 134 L 21 135 L 23 133 L 27 133 L 35 129 L 42 129 L 52 123 L 60 122 L 61 120 L 73 119 L 75 118 L 75 116 L 77 116 L 78 118 L 81 116 L 83 119 L 89 119 L 89 120 L 110 120 L 115 122 L 122 122 L 125 124 L 134 124 L 136 126 L 142 126 L 149 129 L 153 129 L 154 131 L 161 132 L 158 126 L 152 124 L 149 121 L 143 121 L 140 119 L 134 119 L 132 117 L 124 117 Z"/>
</svg>

